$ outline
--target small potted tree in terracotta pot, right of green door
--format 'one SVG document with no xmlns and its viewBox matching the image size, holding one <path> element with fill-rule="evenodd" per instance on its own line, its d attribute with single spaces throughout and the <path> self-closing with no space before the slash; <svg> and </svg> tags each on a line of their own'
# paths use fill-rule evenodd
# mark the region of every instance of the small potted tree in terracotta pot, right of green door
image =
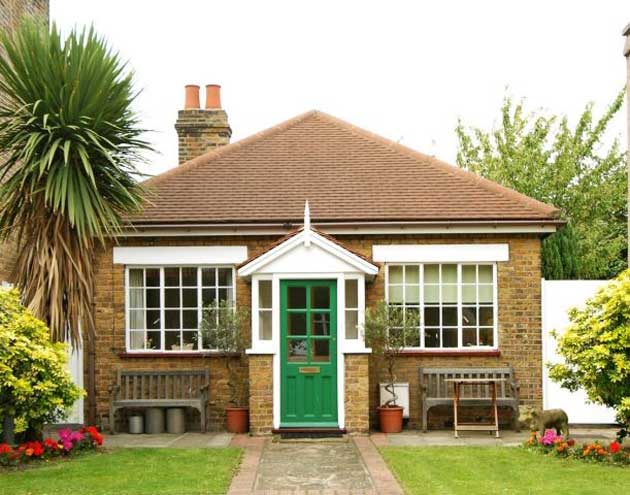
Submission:
<svg viewBox="0 0 630 495">
<path fill-rule="evenodd" d="M 365 314 L 365 340 L 372 355 L 379 361 L 377 369 L 386 370 L 386 385 L 391 398 L 377 408 L 379 426 L 383 433 L 402 431 L 403 408 L 396 404 L 394 384 L 396 364 L 405 347 L 405 336 L 418 331 L 419 315 L 416 311 L 405 311 L 398 306 L 389 306 L 379 301 Z"/>
</svg>

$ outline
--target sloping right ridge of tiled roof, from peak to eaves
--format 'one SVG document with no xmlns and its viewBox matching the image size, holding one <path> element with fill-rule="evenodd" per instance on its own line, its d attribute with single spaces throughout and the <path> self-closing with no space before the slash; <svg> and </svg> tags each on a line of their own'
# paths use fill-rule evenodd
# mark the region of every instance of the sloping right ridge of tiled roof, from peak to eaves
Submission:
<svg viewBox="0 0 630 495">
<path fill-rule="evenodd" d="M 314 116 L 321 116 L 323 119 L 331 122 L 332 124 L 337 125 L 338 127 L 341 127 L 342 129 L 345 129 L 349 132 L 354 133 L 355 135 L 358 135 L 370 141 L 376 142 L 379 145 L 387 146 L 396 152 L 403 153 L 416 160 L 422 159 L 431 166 L 434 166 L 446 173 L 459 176 L 463 180 L 467 180 L 470 183 L 479 185 L 493 193 L 500 194 L 502 196 L 524 203 L 527 206 L 535 210 L 538 210 L 539 212 L 542 212 L 546 215 L 554 214 L 554 216 L 559 216 L 559 210 L 555 206 L 549 205 L 542 201 L 538 201 L 537 199 L 534 199 L 534 198 L 530 198 L 529 196 L 523 193 L 520 193 L 509 187 L 502 186 L 501 184 L 494 182 L 490 179 L 486 179 L 485 177 L 482 177 L 481 175 L 478 175 L 474 172 L 464 170 L 463 168 L 460 168 L 456 165 L 451 165 L 450 163 L 446 163 L 438 158 L 416 151 L 412 148 L 409 148 L 408 146 L 397 143 L 396 141 L 392 141 L 391 139 L 387 139 L 374 132 L 368 131 L 367 129 L 358 127 L 354 124 L 351 124 L 350 122 L 347 122 L 343 119 L 330 115 L 326 112 L 322 112 L 320 110 L 314 110 L 312 111 L 312 114 Z"/>
</svg>

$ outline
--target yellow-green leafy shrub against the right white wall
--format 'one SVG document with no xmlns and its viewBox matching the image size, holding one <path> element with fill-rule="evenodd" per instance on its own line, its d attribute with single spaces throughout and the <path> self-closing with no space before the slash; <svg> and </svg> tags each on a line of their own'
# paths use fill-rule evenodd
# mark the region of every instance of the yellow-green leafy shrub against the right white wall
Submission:
<svg viewBox="0 0 630 495">
<path fill-rule="evenodd" d="M 570 325 L 558 339 L 565 362 L 549 365 L 553 380 L 582 388 L 596 404 L 615 409 L 620 436 L 630 425 L 630 270 L 621 273 L 583 309 L 569 312 Z"/>
</svg>

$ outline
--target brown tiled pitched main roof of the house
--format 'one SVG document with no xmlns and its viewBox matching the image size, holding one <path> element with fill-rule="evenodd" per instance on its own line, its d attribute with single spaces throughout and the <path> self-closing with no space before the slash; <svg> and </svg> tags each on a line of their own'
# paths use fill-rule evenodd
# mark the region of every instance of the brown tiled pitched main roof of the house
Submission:
<svg viewBox="0 0 630 495">
<path fill-rule="evenodd" d="M 136 225 L 544 221 L 557 210 L 319 111 L 145 182 Z"/>
</svg>

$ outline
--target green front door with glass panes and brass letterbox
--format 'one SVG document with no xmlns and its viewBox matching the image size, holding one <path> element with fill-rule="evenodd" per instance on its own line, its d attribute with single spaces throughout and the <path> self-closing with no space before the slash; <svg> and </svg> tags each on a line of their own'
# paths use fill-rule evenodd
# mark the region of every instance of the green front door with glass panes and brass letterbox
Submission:
<svg viewBox="0 0 630 495">
<path fill-rule="evenodd" d="M 280 282 L 283 427 L 337 426 L 337 282 Z"/>
</svg>

